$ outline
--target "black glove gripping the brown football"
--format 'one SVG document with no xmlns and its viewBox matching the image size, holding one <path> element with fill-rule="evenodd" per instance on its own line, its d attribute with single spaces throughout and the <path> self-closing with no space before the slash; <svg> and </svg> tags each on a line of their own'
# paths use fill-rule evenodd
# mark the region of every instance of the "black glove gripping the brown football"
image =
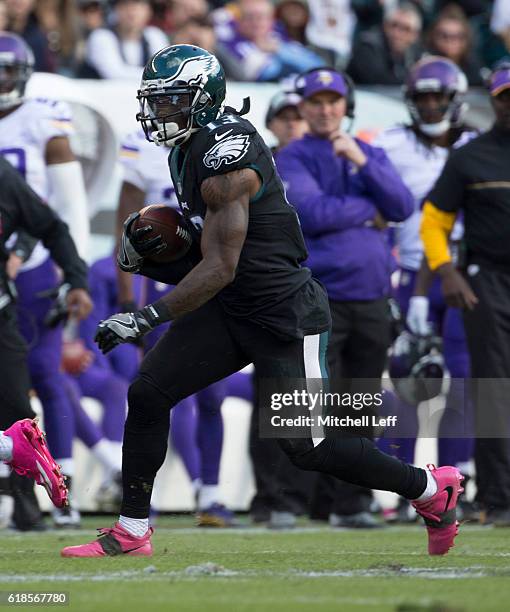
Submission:
<svg viewBox="0 0 510 612">
<path fill-rule="evenodd" d="M 152 231 L 152 226 L 147 225 L 133 231 L 133 224 L 140 217 L 140 213 L 133 213 L 124 221 L 124 231 L 120 239 L 117 263 L 124 272 L 136 274 L 144 257 L 157 255 L 166 249 L 166 242 L 158 234 L 153 238 L 144 240 L 144 236 Z"/>
</svg>

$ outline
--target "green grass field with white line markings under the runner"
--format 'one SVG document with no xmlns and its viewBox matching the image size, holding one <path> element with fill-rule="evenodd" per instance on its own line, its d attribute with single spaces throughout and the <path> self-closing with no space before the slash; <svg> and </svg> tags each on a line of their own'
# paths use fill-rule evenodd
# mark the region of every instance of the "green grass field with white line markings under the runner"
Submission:
<svg viewBox="0 0 510 612">
<path fill-rule="evenodd" d="M 198 530 L 178 517 L 160 519 L 152 558 L 59 556 L 110 523 L 2 533 L 0 591 L 67 591 L 66 609 L 87 611 L 510 609 L 510 529 L 466 526 L 449 555 L 431 558 L 417 526 Z"/>
</svg>

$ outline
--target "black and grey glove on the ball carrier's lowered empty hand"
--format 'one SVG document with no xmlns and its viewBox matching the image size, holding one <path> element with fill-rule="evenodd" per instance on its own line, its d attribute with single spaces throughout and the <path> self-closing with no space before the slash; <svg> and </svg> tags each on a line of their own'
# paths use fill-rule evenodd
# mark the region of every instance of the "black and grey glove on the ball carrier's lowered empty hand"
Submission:
<svg viewBox="0 0 510 612">
<path fill-rule="evenodd" d="M 101 321 L 97 326 L 94 342 L 104 355 L 119 344 L 137 344 L 147 332 L 154 328 L 143 310 L 117 313 Z"/>
</svg>

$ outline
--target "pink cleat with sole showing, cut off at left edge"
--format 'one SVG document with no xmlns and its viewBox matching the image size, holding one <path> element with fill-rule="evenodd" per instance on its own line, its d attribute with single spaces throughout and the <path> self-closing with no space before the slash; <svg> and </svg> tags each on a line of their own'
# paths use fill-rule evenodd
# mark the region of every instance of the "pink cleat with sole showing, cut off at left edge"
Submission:
<svg viewBox="0 0 510 612">
<path fill-rule="evenodd" d="M 64 477 L 48 450 L 37 419 L 16 421 L 4 431 L 4 435 L 12 438 L 12 459 L 5 463 L 21 476 L 34 478 L 46 489 L 57 508 L 67 505 Z"/>
</svg>

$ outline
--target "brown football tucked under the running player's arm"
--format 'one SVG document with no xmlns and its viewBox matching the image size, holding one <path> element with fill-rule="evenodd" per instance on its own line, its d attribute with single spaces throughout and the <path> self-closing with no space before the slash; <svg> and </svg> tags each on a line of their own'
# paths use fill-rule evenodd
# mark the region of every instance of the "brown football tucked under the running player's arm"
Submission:
<svg viewBox="0 0 510 612">
<path fill-rule="evenodd" d="M 186 228 L 182 215 L 164 204 L 152 204 L 140 211 L 140 216 L 133 224 L 133 230 L 150 226 L 152 230 L 147 232 L 144 240 L 149 240 L 161 235 L 166 242 L 166 248 L 158 255 L 147 257 L 156 263 L 171 263 L 184 257 L 189 251 L 192 238 Z"/>
</svg>

